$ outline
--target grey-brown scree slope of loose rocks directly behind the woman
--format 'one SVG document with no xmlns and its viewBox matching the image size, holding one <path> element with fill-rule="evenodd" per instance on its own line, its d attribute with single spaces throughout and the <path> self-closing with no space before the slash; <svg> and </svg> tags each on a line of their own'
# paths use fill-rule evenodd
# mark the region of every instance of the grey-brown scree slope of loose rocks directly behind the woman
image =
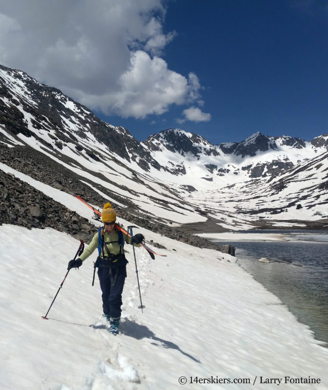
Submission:
<svg viewBox="0 0 328 390">
<path fill-rule="evenodd" d="M 61 191 L 77 194 L 88 200 L 91 199 L 93 204 L 99 204 L 100 209 L 108 201 L 108 199 L 82 183 L 81 179 L 85 181 L 85 178 L 74 174 L 61 164 L 29 146 L 9 148 L 1 145 L 0 161 Z M 102 191 L 106 192 L 107 190 L 102 188 Z M 1 224 L 20 225 L 28 229 L 51 227 L 77 239 L 82 239 L 86 243 L 91 241 L 98 229 L 86 218 L 72 212 L 19 178 L 11 174 L 5 174 L 2 170 L 0 170 L 0 194 Z M 112 195 L 110 194 L 110 196 Z M 125 198 L 119 198 L 118 201 L 124 203 Z M 212 243 L 203 237 L 187 234 L 164 224 L 151 223 L 149 220 L 135 215 L 137 211 L 134 210 L 133 203 L 128 204 L 128 206 L 131 212 L 113 203 L 113 207 L 120 217 L 145 229 L 189 245 L 215 249 L 221 252 L 232 251 L 227 246 Z M 150 244 L 159 246 L 157 243 Z"/>
</svg>

